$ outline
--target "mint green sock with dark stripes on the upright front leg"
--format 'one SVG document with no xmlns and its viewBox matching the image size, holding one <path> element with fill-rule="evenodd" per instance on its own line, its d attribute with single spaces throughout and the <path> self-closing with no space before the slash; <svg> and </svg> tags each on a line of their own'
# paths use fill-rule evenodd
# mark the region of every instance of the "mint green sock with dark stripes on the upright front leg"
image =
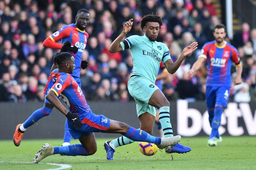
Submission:
<svg viewBox="0 0 256 170">
<path fill-rule="evenodd" d="M 172 137 L 172 125 L 170 121 L 170 107 L 163 106 L 159 108 L 159 122 L 162 125 L 163 134 L 165 137 Z"/>
</svg>

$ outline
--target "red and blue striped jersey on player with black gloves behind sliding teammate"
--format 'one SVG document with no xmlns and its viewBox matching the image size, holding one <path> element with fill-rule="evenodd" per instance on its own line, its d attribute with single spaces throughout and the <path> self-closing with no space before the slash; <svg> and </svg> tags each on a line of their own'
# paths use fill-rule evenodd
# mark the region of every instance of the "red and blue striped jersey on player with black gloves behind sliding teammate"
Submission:
<svg viewBox="0 0 256 170">
<path fill-rule="evenodd" d="M 49 36 L 49 38 L 54 42 L 61 39 L 62 43 L 64 43 L 66 40 L 69 40 L 71 42 L 71 46 L 76 46 L 78 48 L 76 54 L 70 52 L 75 58 L 75 70 L 71 74 L 74 77 L 80 77 L 82 53 L 86 47 L 88 37 L 89 35 L 87 32 L 76 28 L 73 23 L 63 26 L 59 31 L 56 31 Z"/>
</svg>

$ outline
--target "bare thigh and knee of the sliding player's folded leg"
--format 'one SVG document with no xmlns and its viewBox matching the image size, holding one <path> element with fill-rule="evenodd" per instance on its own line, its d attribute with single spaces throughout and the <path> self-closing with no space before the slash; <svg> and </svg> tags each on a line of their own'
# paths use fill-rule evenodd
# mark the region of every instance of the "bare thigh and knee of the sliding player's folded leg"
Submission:
<svg viewBox="0 0 256 170">
<path fill-rule="evenodd" d="M 88 155 L 93 155 L 97 151 L 97 143 L 94 133 L 86 136 L 81 136 L 79 141 L 87 151 Z"/>
</svg>

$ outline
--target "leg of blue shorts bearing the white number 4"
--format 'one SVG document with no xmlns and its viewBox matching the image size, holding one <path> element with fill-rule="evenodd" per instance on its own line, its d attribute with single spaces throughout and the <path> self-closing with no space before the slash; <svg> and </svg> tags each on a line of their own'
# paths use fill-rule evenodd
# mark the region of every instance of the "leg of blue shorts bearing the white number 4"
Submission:
<svg viewBox="0 0 256 170">
<path fill-rule="evenodd" d="M 216 90 L 216 104 L 222 107 L 226 107 L 229 98 L 230 87 L 221 86 Z"/>
</svg>

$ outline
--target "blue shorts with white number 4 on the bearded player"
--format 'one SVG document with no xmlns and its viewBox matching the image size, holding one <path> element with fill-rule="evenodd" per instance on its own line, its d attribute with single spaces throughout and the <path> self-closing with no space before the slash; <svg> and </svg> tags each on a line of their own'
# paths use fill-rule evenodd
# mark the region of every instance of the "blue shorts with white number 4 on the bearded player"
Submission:
<svg viewBox="0 0 256 170">
<path fill-rule="evenodd" d="M 215 105 L 226 107 L 229 98 L 230 87 L 207 86 L 205 92 L 206 105 L 208 109 L 213 109 Z"/>
</svg>

